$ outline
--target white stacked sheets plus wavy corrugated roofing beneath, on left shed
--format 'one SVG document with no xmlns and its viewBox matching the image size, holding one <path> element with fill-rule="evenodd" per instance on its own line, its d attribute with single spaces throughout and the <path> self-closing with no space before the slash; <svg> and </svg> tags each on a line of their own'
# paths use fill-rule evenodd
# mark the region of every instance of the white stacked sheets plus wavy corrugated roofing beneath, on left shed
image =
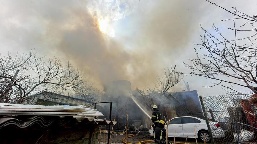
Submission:
<svg viewBox="0 0 257 144">
<path fill-rule="evenodd" d="M 115 125 L 116 122 L 100 120 L 103 116 L 95 109 L 86 106 L 41 106 L 0 103 L 0 130 L 4 127 L 31 127 L 34 124 L 48 127 L 53 122 L 60 126 L 93 122 L 95 125 Z"/>
</svg>

